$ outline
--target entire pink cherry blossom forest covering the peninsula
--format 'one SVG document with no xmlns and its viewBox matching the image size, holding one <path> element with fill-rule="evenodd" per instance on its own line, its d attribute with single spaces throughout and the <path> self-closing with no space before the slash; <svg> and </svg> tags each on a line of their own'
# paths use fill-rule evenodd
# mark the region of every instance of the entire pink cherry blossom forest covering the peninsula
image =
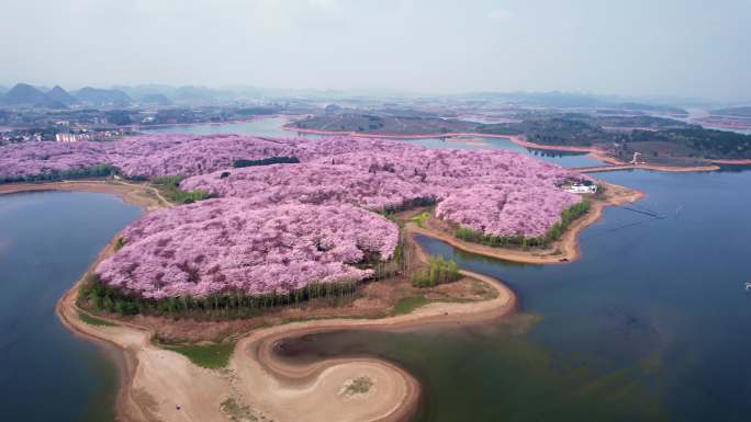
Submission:
<svg viewBox="0 0 751 422">
<path fill-rule="evenodd" d="M 233 167 L 277 157 L 299 162 Z M 164 134 L 0 147 L 0 180 L 99 164 L 124 178 L 187 176 L 181 190 L 212 195 L 145 215 L 96 269 L 109 286 L 149 299 L 369 278 L 363 262 L 392 260 L 400 239 L 379 213 L 416 205 L 435 204 L 436 217 L 487 236 L 539 237 L 581 199 L 559 186 L 587 179 L 511 151 L 352 137 Z"/>
</svg>

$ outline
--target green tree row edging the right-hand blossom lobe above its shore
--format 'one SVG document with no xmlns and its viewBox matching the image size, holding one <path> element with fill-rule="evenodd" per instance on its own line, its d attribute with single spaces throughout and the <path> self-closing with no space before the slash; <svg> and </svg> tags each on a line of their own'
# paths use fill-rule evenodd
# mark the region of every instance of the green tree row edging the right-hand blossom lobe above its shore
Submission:
<svg viewBox="0 0 751 422">
<path fill-rule="evenodd" d="M 571 223 L 586 214 L 592 207 L 592 202 L 584 199 L 561 213 L 561 221 L 552 225 L 545 236 L 490 236 L 468 227 L 459 227 L 453 231 L 453 236 L 470 242 L 481 243 L 494 248 L 545 248 L 551 242 L 563 236 Z"/>
</svg>

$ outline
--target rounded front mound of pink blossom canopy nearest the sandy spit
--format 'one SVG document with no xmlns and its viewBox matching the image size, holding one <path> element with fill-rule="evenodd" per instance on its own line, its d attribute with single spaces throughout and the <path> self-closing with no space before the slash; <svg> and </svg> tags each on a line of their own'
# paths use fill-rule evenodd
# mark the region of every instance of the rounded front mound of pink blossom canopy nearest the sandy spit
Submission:
<svg viewBox="0 0 751 422">
<path fill-rule="evenodd" d="M 146 298 L 288 293 L 360 281 L 366 255 L 392 258 L 399 228 L 352 206 L 251 208 L 237 198 L 154 212 L 123 231 L 125 246 L 97 273 Z"/>
</svg>

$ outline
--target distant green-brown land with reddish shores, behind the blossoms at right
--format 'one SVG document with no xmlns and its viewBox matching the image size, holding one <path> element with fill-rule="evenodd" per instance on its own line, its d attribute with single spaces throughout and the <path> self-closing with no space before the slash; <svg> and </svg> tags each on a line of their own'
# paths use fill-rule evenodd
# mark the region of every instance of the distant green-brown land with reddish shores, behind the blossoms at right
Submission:
<svg viewBox="0 0 751 422">
<path fill-rule="evenodd" d="M 309 116 L 285 127 L 298 133 L 372 138 L 503 137 L 535 150 L 591 153 L 618 170 L 714 171 L 719 166 L 751 162 L 751 135 L 621 113 L 524 111 L 507 122 L 477 123 L 428 113 L 343 111 Z"/>
</svg>

